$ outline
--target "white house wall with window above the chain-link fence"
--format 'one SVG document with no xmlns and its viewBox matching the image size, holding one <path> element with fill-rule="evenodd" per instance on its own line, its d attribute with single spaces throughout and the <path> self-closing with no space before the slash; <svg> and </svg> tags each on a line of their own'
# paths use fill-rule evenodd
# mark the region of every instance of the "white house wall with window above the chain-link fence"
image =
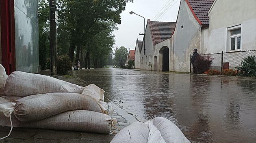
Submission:
<svg viewBox="0 0 256 143">
<path fill-rule="evenodd" d="M 256 50 L 256 0 L 215 0 L 208 16 L 204 53 Z"/>
</svg>

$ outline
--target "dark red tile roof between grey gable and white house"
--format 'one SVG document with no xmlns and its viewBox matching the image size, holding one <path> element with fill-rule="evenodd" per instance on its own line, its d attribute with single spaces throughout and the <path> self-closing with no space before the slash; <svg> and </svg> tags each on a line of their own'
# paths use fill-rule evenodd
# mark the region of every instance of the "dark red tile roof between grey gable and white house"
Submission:
<svg viewBox="0 0 256 143">
<path fill-rule="evenodd" d="M 214 0 L 186 0 L 191 8 L 195 19 L 201 24 L 209 24 L 208 11 L 213 5 Z"/>
</svg>

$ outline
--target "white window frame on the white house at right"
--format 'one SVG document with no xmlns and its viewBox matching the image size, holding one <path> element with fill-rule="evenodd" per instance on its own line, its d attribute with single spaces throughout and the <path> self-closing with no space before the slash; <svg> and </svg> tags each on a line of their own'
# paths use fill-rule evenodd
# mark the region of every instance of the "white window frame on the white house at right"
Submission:
<svg viewBox="0 0 256 143">
<path fill-rule="evenodd" d="M 241 25 L 236 25 L 236 26 L 232 26 L 232 27 L 228 27 L 226 28 L 227 30 L 227 41 L 226 41 L 226 49 L 227 49 L 227 52 L 235 52 L 235 51 L 241 51 L 242 49 L 242 39 L 243 39 L 243 36 L 242 36 L 242 33 L 243 33 L 243 26 L 242 24 Z M 231 31 L 232 30 L 235 30 L 235 29 L 241 29 L 241 33 L 240 34 L 235 34 L 235 35 L 232 35 L 231 36 Z M 240 49 L 237 49 L 237 38 L 240 37 Z M 236 46 L 235 46 L 235 49 L 234 50 L 231 50 L 231 38 L 236 38 Z"/>
</svg>

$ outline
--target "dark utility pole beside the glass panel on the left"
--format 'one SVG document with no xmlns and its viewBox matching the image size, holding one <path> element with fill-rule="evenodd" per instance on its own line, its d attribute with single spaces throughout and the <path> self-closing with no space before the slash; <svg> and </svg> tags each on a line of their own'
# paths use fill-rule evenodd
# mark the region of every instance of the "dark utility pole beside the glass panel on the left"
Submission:
<svg viewBox="0 0 256 143">
<path fill-rule="evenodd" d="M 50 0 L 50 68 L 51 75 L 57 74 L 57 29 L 58 14 L 56 13 L 56 0 Z"/>
</svg>

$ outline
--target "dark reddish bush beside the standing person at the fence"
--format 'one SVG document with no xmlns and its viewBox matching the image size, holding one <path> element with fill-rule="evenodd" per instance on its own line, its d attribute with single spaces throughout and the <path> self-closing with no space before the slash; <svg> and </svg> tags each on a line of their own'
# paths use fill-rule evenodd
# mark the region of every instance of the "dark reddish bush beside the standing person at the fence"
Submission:
<svg viewBox="0 0 256 143">
<path fill-rule="evenodd" d="M 207 71 L 210 69 L 210 66 L 213 63 L 213 58 L 210 57 L 210 55 L 199 55 L 195 59 L 195 68 L 198 70 L 198 74 L 204 73 L 204 71 Z"/>
</svg>

